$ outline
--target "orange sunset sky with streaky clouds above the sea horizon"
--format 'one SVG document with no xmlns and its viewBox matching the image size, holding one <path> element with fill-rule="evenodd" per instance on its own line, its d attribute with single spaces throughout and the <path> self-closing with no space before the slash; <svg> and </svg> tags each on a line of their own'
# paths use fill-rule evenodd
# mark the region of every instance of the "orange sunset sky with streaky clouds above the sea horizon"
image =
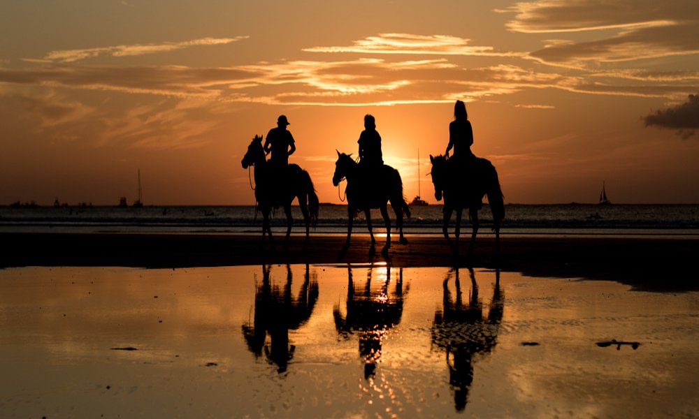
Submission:
<svg viewBox="0 0 699 419">
<path fill-rule="evenodd" d="M 321 202 L 376 117 L 405 196 L 454 101 L 505 203 L 699 203 L 699 2 L 0 2 L 0 205 L 254 204 L 287 115 Z M 419 154 L 418 154 L 419 150 Z M 344 188 L 344 185 L 342 185 Z"/>
</svg>

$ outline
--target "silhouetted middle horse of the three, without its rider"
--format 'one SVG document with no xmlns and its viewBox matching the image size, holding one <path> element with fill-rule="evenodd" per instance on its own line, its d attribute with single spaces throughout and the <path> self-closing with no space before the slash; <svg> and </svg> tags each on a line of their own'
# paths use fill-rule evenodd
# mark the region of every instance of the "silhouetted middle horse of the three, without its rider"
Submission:
<svg viewBox="0 0 699 419">
<path fill-rule="evenodd" d="M 374 233 L 371 230 L 372 208 L 381 210 L 381 216 L 386 224 L 386 244 L 381 253 L 387 254 L 391 247 L 391 219 L 387 210 L 387 202 L 391 201 L 391 207 L 396 213 L 396 228 L 401 235 L 400 243 L 406 244 L 408 240 L 403 236 L 403 212 L 410 217 L 410 208 L 403 196 L 403 180 L 398 170 L 391 166 L 383 165 L 378 168 L 360 168 L 351 157 L 351 154 L 338 152 L 338 161 L 335 163 L 333 185 L 338 186 L 343 178 L 347 178 L 347 242 L 343 250 L 349 247 L 349 238 L 352 236 L 352 222 L 356 212 L 362 210 L 366 216 L 366 226 L 371 235 L 370 252 L 374 251 Z"/>
</svg>

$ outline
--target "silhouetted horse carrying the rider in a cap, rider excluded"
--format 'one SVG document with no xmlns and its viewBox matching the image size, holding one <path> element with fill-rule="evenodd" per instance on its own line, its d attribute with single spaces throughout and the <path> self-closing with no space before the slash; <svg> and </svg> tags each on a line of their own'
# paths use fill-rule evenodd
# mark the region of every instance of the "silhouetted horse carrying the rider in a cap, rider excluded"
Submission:
<svg viewBox="0 0 699 419">
<path fill-rule="evenodd" d="M 284 207 L 284 214 L 287 215 L 287 236 L 284 238 L 284 245 L 289 244 L 291 235 L 291 202 L 298 199 L 298 207 L 301 208 L 303 221 L 306 228 L 306 241 L 308 245 L 310 223 L 315 224 L 318 219 L 318 196 L 315 193 L 313 182 L 308 172 L 301 169 L 296 164 L 284 167 L 275 167 L 266 160 L 264 148 L 262 147 L 262 137 L 255 135 L 255 138 L 247 146 L 247 152 L 243 156 L 243 168 L 254 166 L 255 172 L 255 199 L 262 212 L 262 240 L 265 233 L 269 234 L 272 242 L 272 229 L 269 226 L 269 216 L 272 207 Z"/>
</svg>

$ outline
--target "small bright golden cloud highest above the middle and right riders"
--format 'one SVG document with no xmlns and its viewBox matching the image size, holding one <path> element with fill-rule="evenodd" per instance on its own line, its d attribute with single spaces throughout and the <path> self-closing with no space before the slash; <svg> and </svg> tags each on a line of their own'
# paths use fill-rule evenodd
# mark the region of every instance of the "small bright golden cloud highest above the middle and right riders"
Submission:
<svg viewBox="0 0 699 419">
<path fill-rule="evenodd" d="M 514 52 L 496 52 L 493 47 L 468 45 L 470 39 L 449 35 L 379 34 L 348 46 L 309 47 L 306 52 L 356 52 L 361 54 L 477 55 L 515 57 Z"/>
</svg>

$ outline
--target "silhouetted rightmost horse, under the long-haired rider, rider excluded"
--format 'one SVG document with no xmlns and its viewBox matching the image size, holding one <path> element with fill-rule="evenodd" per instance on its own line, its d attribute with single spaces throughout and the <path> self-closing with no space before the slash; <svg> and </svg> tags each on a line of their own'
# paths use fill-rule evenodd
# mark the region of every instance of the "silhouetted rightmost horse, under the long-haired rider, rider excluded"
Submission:
<svg viewBox="0 0 699 419">
<path fill-rule="evenodd" d="M 482 207 L 483 196 L 488 196 L 490 210 L 493 213 L 493 230 L 495 230 L 496 251 L 500 250 L 500 223 L 505 219 L 505 204 L 503 191 L 500 189 L 498 172 L 487 159 L 475 158 L 462 167 L 459 161 L 446 159 L 444 156 L 430 156 L 432 162 L 432 183 L 435 186 L 435 198 L 442 200 L 444 196 L 444 224 L 442 232 L 449 246 L 447 228 L 452 212 L 456 210 L 456 238 L 452 250 L 458 251 L 459 228 L 461 228 L 461 212 L 468 208 L 468 216 L 473 223 L 473 233 L 468 243 L 468 253 L 473 253 L 473 244 L 478 233 L 478 210 Z"/>
</svg>

